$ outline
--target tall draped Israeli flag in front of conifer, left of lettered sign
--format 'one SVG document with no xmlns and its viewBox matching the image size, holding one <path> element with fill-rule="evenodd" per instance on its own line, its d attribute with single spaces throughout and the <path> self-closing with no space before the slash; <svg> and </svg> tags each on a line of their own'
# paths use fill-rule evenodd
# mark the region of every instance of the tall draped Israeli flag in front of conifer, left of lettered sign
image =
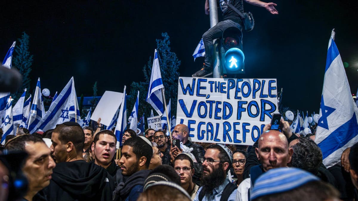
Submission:
<svg viewBox="0 0 358 201">
<path fill-rule="evenodd" d="M 158 53 L 155 49 L 152 74 L 150 76 L 150 83 L 146 101 L 151 104 L 151 106 L 155 109 L 159 116 L 164 113 L 162 90 L 164 92 L 164 85 L 161 79 L 159 68 Z"/>
</svg>

